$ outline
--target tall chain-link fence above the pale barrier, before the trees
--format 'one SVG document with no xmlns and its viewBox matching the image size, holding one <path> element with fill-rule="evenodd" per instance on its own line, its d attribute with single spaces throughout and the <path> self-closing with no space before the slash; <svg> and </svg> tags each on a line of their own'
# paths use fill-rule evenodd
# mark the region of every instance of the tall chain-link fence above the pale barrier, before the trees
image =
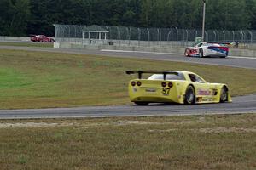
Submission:
<svg viewBox="0 0 256 170">
<path fill-rule="evenodd" d="M 131 46 L 168 46 L 184 47 L 195 43 L 196 37 L 201 37 L 201 30 L 178 28 L 137 28 L 125 26 L 101 26 L 108 31 L 106 39 L 99 39 L 99 35 L 92 33 L 84 35 L 82 31 L 87 26 L 54 25 L 55 42 L 70 42 L 80 44 L 115 44 Z M 83 38 L 84 37 L 84 38 Z M 256 43 L 256 31 L 205 31 L 206 42 L 239 42 L 241 44 Z M 111 42 L 111 43 L 110 43 Z"/>
</svg>

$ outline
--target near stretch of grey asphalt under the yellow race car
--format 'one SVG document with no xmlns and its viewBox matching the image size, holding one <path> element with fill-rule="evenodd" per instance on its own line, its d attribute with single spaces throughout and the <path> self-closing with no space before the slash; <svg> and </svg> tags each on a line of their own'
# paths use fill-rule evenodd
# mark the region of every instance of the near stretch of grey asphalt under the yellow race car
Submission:
<svg viewBox="0 0 256 170">
<path fill-rule="evenodd" d="M 177 116 L 204 114 L 256 113 L 256 95 L 241 96 L 233 103 L 207 105 L 125 105 L 36 110 L 2 110 L 0 119 L 106 117 L 106 116 Z"/>
</svg>

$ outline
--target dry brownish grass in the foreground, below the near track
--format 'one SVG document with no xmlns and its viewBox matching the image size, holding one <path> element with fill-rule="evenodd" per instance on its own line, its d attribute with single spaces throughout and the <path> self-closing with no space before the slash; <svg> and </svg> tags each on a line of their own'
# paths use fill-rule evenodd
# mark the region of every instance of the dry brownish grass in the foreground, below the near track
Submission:
<svg viewBox="0 0 256 170">
<path fill-rule="evenodd" d="M 255 169 L 256 115 L 0 121 L 1 169 Z"/>
</svg>

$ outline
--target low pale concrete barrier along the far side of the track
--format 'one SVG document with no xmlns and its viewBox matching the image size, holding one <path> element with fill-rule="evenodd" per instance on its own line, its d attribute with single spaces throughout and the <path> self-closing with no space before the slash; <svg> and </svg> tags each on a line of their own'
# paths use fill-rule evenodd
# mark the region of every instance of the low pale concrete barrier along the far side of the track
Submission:
<svg viewBox="0 0 256 170">
<path fill-rule="evenodd" d="M 30 37 L 3 37 L 0 36 L 0 41 L 24 41 L 29 42 Z M 175 53 L 175 54 L 183 54 L 184 48 L 178 47 L 181 42 L 172 42 L 172 44 L 168 44 L 169 42 L 143 42 L 140 44 L 142 46 L 137 46 L 137 41 L 130 41 L 130 46 L 119 45 L 120 41 L 125 40 L 115 40 L 113 45 L 109 45 L 109 40 L 106 42 L 99 42 L 97 44 L 83 45 L 78 41 L 78 43 L 67 42 L 55 42 L 55 48 L 79 48 L 79 49 L 109 49 L 109 50 L 125 50 L 125 51 L 148 51 L 148 52 L 157 52 L 157 53 Z M 191 42 L 188 42 L 191 43 Z M 188 44 L 189 45 L 189 44 Z M 240 49 L 240 48 L 230 48 L 230 54 L 232 56 L 243 56 L 243 57 L 255 57 L 256 58 L 256 44 L 250 44 L 250 49 Z"/>
</svg>

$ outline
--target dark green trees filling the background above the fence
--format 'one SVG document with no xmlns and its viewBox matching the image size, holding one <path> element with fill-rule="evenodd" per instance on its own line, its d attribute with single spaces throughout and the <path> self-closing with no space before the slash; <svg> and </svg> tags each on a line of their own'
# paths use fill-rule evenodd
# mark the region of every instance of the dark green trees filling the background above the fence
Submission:
<svg viewBox="0 0 256 170">
<path fill-rule="evenodd" d="M 206 29 L 256 30 L 256 0 L 207 0 Z M 53 24 L 201 28 L 202 0 L 0 0 L 0 35 L 53 36 Z"/>
</svg>

